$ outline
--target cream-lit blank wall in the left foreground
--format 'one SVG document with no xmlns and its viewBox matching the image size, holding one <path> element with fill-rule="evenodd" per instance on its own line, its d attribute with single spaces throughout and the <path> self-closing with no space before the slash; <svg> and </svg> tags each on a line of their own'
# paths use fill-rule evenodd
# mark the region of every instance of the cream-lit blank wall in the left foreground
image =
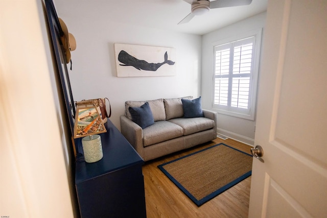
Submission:
<svg viewBox="0 0 327 218">
<path fill-rule="evenodd" d="M 0 215 L 74 217 L 42 1 L 0 1 L 0 16 Z"/>
</svg>

